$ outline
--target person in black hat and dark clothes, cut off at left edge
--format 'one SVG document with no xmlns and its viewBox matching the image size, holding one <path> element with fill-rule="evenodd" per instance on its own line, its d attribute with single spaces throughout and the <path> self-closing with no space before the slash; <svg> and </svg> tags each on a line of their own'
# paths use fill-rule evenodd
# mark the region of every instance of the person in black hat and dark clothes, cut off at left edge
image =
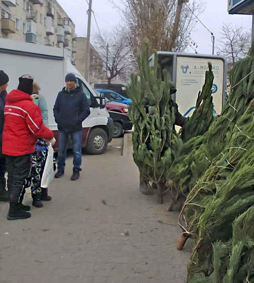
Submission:
<svg viewBox="0 0 254 283">
<path fill-rule="evenodd" d="M 0 201 L 7 202 L 9 200 L 8 193 L 5 189 L 6 180 L 5 173 L 5 157 L 2 154 L 2 134 L 4 129 L 4 105 L 6 101 L 6 89 L 8 86 L 9 77 L 4 71 L 0 71 Z"/>
</svg>

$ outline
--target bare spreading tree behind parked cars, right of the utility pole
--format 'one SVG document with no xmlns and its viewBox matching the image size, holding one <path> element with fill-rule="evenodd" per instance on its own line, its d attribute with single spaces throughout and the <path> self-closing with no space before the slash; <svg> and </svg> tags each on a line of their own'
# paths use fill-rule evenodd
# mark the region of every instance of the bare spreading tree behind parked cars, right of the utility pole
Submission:
<svg viewBox="0 0 254 283">
<path fill-rule="evenodd" d="M 96 36 L 95 45 L 107 70 L 108 84 L 115 78 L 126 81 L 134 71 L 134 57 L 123 28 Z"/>
</svg>

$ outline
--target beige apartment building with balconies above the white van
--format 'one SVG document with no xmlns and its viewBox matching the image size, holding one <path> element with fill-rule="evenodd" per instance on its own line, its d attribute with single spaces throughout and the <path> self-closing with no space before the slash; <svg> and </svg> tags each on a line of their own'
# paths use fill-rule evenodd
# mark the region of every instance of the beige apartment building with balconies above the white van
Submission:
<svg viewBox="0 0 254 283">
<path fill-rule="evenodd" d="M 75 24 L 56 0 L 0 0 L 0 37 L 66 47 L 75 65 Z"/>
</svg>

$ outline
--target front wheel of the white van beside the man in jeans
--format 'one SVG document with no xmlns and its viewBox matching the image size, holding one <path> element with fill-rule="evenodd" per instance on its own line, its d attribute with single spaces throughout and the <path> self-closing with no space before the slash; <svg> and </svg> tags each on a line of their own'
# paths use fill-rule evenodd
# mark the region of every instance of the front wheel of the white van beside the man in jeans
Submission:
<svg viewBox="0 0 254 283">
<path fill-rule="evenodd" d="M 86 152 L 88 154 L 97 155 L 102 154 L 108 145 L 108 135 L 105 130 L 95 128 L 91 130 L 86 144 Z"/>
</svg>

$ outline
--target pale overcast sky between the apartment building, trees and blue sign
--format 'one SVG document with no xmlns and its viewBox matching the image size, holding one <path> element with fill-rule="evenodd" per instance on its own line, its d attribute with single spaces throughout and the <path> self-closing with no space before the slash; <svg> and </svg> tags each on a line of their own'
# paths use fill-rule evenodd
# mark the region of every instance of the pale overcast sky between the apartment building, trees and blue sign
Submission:
<svg viewBox="0 0 254 283">
<path fill-rule="evenodd" d="M 87 9 L 86 0 L 57 0 L 67 12 L 69 17 L 76 24 L 76 33 L 78 36 L 86 36 L 87 30 Z M 192 1 L 192 0 L 190 0 Z M 114 0 L 115 3 L 120 3 L 120 0 Z M 207 0 L 204 12 L 199 16 L 201 21 L 215 35 L 215 44 L 218 44 L 220 39 L 220 31 L 223 23 L 232 23 L 233 25 L 243 24 L 247 30 L 251 29 L 252 16 L 228 15 L 227 0 Z M 121 15 L 115 9 L 109 0 L 93 0 L 92 9 L 101 32 L 110 31 L 117 24 L 121 23 Z M 92 36 L 98 32 L 95 21 L 92 21 L 91 34 Z M 211 53 L 211 35 L 200 24 L 196 24 L 196 29 L 192 33 L 192 39 L 198 44 L 198 53 Z"/>
</svg>

